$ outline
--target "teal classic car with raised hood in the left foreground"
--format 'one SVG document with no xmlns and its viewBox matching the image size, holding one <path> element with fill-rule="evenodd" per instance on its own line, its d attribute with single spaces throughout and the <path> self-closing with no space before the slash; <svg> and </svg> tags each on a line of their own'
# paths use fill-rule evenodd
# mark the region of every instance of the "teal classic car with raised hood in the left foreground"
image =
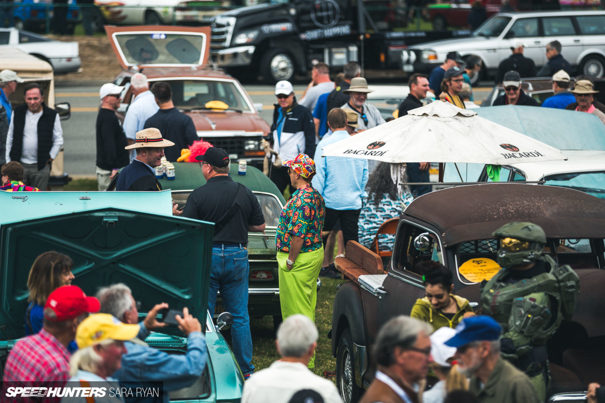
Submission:
<svg viewBox="0 0 605 403">
<path fill-rule="evenodd" d="M 171 392 L 172 401 L 240 401 L 243 376 L 208 315 L 214 224 L 174 218 L 168 191 L 0 192 L 0 205 L 1 361 L 25 334 L 31 265 L 54 250 L 73 259 L 73 284 L 88 295 L 125 283 L 142 305 L 140 315 L 164 301 L 205 323 L 206 370 L 191 387 Z M 170 327 L 146 342 L 174 354 L 187 346 Z"/>
</svg>

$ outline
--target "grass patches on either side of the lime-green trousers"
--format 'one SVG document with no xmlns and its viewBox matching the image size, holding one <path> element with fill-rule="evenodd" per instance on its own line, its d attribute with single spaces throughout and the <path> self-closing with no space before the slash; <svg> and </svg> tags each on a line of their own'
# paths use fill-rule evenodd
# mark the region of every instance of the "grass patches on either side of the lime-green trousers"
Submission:
<svg viewBox="0 0 605 403">
<path fill-rule="evenodd" d="M 344 283 L 340 279 L 326 279 L 321 277 L 321 289 L 317 294 L 317 308 L 315 310 L 315 324 L 319 332 L 317 349 L 315 350 L 315 369 L 319 376 L 324 371 L 336 370 L 336 358 L 332 358 L 332 340 L 327 334 L 332 328 L 332 305 L 336 295 L 336 285 Z M 252 364 L 256 370 L 269 367 L 280 359 L 275 348 L 275 334 L 273 333 L 273 319 L 264 317 L 262 319 L 250 319 L 250 330 L 252 331 Z M 332 378 L 336 381 L 335 378 Z"/>
</svg>

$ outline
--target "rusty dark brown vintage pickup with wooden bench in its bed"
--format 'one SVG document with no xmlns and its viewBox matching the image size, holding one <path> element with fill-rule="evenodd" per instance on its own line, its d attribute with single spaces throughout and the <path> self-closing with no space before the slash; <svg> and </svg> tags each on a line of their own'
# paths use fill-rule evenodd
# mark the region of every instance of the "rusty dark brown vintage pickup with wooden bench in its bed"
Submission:
<svg viewBox="0 0 605 403">
<path fill-rule="evenodd" d="M 499 270 L 491 233 L 511 221 L 540 225 L 548 239 L 545 253 L 560 265 L 571 265 L 580 277 L 572 321 L 564 322 L 548 343 L 548 396 L 582 399 L 578 393 L 589 382 L 605 383 L 605 201 L 546 185 L 468 185 L 414 200 L 399 220 L 386 267 L 353 241 L 347 244 L 347 258 L 336 258 L 336 267 L 350 280 L 336 292 L 329 332 L 345 403 L 357 401 L 374 378 L 370 351 L 378 329 L 396 315 L 409 315 L 416 299 L 424 297 L 414 265 L 443 263 L 453 272 L 456 294 L 478 308 L 479 282 Z"/>
</svg>

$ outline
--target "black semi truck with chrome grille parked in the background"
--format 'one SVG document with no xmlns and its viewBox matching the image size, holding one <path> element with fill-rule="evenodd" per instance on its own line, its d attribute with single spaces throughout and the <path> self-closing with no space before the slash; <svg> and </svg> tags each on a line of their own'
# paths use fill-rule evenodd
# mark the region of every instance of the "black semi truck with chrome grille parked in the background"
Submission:
<svg viewBox="0 0 605 403">
<path fill-rule="evenodd" d="M 267 83 L 306 74 L 316 62 L 338 69 L 400 69 L 401 51 L 461 31 L 406 31 L 394 0 L 285 0 L 227 11 L 212 19 L 211 62 L 238 79 Z"/>
</svg>

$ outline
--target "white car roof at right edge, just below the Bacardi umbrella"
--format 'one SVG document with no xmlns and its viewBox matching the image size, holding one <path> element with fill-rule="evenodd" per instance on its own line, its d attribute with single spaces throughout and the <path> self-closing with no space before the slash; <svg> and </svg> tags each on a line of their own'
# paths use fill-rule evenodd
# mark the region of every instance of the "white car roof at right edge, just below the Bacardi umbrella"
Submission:
<svg viewBox="0 0 605 403">
<path fill-rule="evenodd" d="M 561 150 L 567 161 L 545 161 L 542 163 L 518 163 L 511 167 L 525 173 L 527 181 L 540 181 L 555 173 L 605 171 L 603 150 Z"/>
</svg>

